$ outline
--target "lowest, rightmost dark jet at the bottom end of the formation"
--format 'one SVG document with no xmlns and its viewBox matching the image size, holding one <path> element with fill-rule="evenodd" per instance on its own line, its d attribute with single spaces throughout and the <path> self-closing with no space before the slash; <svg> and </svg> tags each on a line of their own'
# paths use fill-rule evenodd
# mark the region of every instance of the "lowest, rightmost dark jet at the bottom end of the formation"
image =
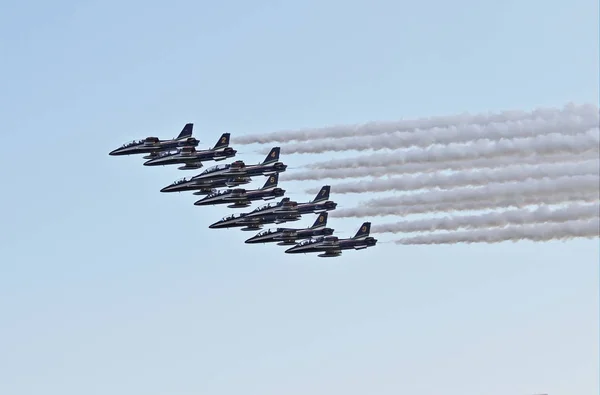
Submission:
<svg viewBox="0 0 600 395">
<path fill-rule="evenodd" d="M 365 222 L 354 237 L 338 239 L 336 236 L 324 236 L 317 239 L 309 239 L 285 250 L 285 252 L 287 254 L 320 252 L 318 256 L 321 258 L 337 257 L 342 255 L 343 250 L 362 250 L 375 246 L 377 239 L 369 236 L 370 231 L 371 223 Z"/>
</svg>

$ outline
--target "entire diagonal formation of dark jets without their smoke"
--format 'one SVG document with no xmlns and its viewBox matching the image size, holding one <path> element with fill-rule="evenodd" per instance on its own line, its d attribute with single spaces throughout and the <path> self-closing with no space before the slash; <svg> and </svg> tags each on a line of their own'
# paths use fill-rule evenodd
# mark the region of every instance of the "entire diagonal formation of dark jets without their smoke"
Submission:
<svg viewBox="0 0 600 395">
<path fill-rule="evenodd" d="M 179 135 L 173 139 L 161 140 L 146 137 L 132 141 L 111 151 L 109 155 L 139 155 L 147 161 L 144 166 L 179 165 L 180 170 L 193 170 L 204 167 L 203 162 L 221 161 L 233 158 L 237 150 L 229 146 L 230 134 L 223 133 L 212 148 L 198 150 L 199 141 L 192 136 L 193 123 L 187 123 Z M 280 147 L 273 147 L 262 163 L 246 165 L 236 160 L 229 164 L 215 165 L 193 177 L 182 178 L 165 186 L 160 191 L 192 192 L 204 196 L 195 206 L 221 205 L 229 208 L 248 207 L 254 201 L 282 198 L 279 202 L 260 206 L 252 211 L 230 215 L 211 225 L 210 229 L 239 228 L 242 231 L 260 231 L 245 241 L 246 244 L 276 243 L 292 246 L 285 250 L 288 254 L 318 253 L 319 257 L 337 257 L 344 250 L 361 250 L 373 247 L 377 240 L 369 236 L 371 223 L 364 222 L 358 232 L 350 238 L 333 236 L 334 229 L 327 227 L 328 212 L 335 210 L 337 203 L 329 200 L 331 186 L 324 185 L 314 199 L 296 202 L 284 197 L 286 190 L 278 186 L 279 174 L 287 165 L 279 160 Z M 261 188 L 245 189 L 253 177 L 263 176 L 266 181 Z M 221 189 L 226 188 L 226 189 Z M 301 219 L 305 214 L 317 214 L 309 228 L 275 228 L 262 231 L 264 225 L 283 224 Z"/>
</svg>

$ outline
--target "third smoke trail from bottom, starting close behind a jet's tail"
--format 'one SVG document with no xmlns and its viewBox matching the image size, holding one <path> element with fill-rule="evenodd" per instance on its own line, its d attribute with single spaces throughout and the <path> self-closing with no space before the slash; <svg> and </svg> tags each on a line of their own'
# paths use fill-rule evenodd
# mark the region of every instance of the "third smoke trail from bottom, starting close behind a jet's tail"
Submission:
<svg viewBox="0 0 600 395">
<path fill-rule="evenodd" d="M 598 180 L 595 183 L 587 185 L 579 185 L 577 190 L 571 190 L 569 185 L 557 185 L 554 190 L 547 188 L 546 190 L 529 191 L 533 192 L 530 194 L 515 193 L 508 196 L 494 196 L 489 195 L 481 197 L 479 200 L 467 200 L 461 201 L 460 199 L 453 199 L 444 201 L 443 199 L 437 199 L 433 202 L 423 202 L 409 205 L 391 205 L 391 206 L 358 206 L 353 208 L 342 208 L 337 209 L 329 213 L 332 218 L 363 218 L 363 217 L 383 217 L 386 215 L 409 215 L 409 214 L 421 214 L 426 212 L 449 212 L 449 211 L 472 211 L 472 210 L 484 210 L 494 208 L 505 208 L 505 207 L 525 207 L 534 204 L 559 204 L 564 202 L 597 202 L 598 196 Z M 448 193 L 454 191 L 443 191 L 443 192 L 431 192 L 436 193 Z M 460 191 L 459 191 L 460 193 Z M 425 195 L 425 194 L 419 194 Z M 440 197 L 440 196 L 436 196 Z M 454 195 L 456 198 L 457 196 Z"/>
</svg>

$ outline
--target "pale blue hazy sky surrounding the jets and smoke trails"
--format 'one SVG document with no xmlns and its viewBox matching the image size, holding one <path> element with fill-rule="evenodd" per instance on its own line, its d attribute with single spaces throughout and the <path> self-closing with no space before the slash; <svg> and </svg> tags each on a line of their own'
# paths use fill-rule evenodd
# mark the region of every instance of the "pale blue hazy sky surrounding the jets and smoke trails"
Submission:
<svg viewBox="0 0 600 395">
<path fill-rule="evenodd" d="M 3 1 L 0 393 L 598 393 L 598 240 L 288 256 L 108 156 L 597 104 L 597 33 L 592 0 Z"/>
</svg>

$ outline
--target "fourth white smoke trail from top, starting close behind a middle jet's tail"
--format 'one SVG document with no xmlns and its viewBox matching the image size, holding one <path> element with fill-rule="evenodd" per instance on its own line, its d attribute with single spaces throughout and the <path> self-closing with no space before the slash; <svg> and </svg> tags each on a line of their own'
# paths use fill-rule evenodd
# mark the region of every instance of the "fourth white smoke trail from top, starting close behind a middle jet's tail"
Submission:
<svg viewBox="0 0 600 395">
<path fill-rule="evenodd" d="M 404 165 L 377 166 L 377 167 L 355 167 L 348 169 L 314 169 L 299 172 L 282 173 L 282 181 L 306 181 L 330 179 L 347 179 L 360 177 L 383 177 L 392 174 L 414 174 L 429 173 L 441 170 L 464 170 L 464 169 L 493 169 L 514 165 L 515 163 L 523 165 L 535 165 L 543 163 L 569 163 L 598 159 L 598 153 L 589 151 L 580 155 L 558 154 L 558 155 L 532 155 L 519 158 L 518 162 L 514 157 L 500 156 L 497 158 L 478 158 L 472 161 L 449 161 L 432 163 L 406 163 Z M 336 187 L 337 188 L 337 187 Z M 310 191 L 313 191 L 312 189 Z M 309 193 L 316 193 L 309 192 Z"/>
</svg>

